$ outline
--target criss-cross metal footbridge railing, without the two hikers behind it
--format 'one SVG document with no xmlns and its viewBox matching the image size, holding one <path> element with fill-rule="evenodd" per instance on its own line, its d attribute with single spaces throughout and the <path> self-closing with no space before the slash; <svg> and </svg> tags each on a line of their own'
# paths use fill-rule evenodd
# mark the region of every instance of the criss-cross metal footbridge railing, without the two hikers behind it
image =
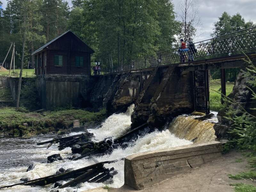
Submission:
<svg viewBox="0 0 256 192">
<path fill-rule="evenodd" d="M 253 37 L 255 38 L 255 34 L 256 31 L 252 30 L 255 29 L 256 26 L 251 27 L 251 28 L 246 28 L 246 29 L 242 29 L 239 31 L 234 31 L 232 33 L 228 33 L 225 35 L 221 35 L 221 36 L 217 36 L 217 37 L 213 37 L 210 39 L 206 39 L 203 41 L 199 41 L 199 42 L 195 42 L 194 47 L 197 48 L 197 52 L 194 52 L 194 58 L 200 58 L 200 57 L 209 57 L 212 55 L 212 58 L 214 58 L 214 55 L 219 55 L 219 54 L 224 54 L 224 53 L 231 53 L 231 52 L 238 52 L 238 51 L 242 51 L 242 50 L 248 50 L 248 49 L 254 49 L 256 48 L 256 43 L 251 42 L 253 45 L 251 46 L 250 44 L 246 44 L 243 41 L 248 41 L 248 38 Z M 248 31 L 246 33 L 243 34 L 237 34 L 237 33 L 241 33 L 243 31 Z M 232 34 L 237 34 L 235 36 L 230 36 Z M 252 34 L 251 36 L 249 34 Z M 242 37 L 239 37 L 242 36 Z M 225 37 L 225 38 L 222 38 Z M 239 37 L 237 38 L 238 41 L 240 40 L 239 43 L 235 44 L 234 47 L 232 48 L 228 48 L 226 46 L 228 46 L 226 44 L 226 42 L 224 42 L 223 40 L 228 39 L 228 38 L 234 38 L 234 37 Z M 221 44 L 221 40 L 222 40 L 222 44 Z M 252 41 L 252 40 L 250 40 Z M 220 43 L 217 43 L 220 42 Z M 231 42 L 234 43 L 234 40 L 231 39 Z M 201 43 L 201 44 L 200 44 Z M 236 43 L 236 42 L 235 42 Z M 187 47 L 186 47 L 187 48 Z M 181 57 L 181 55 L 185 55 L 186 59 L 188 59 L 189 54 L 191 54 L 191 47 L 188 47 L 189 51 L 187 50 L 187 52 L 183 52 L 180 51 L 182 49 L 182 47 L 175 47 L 169 50 L 165 50 L 165 51 L 161 51 L 161 52 L 157 52 L 151 55 L 145 55 L 145 56 L 141 56 L 139 58 L 136 59 L 132 59 L 129 61 L 129 63 L 127 63 L 126 65 L 120 65 L 120 66 L 116 66 L 113 68 L 101 68 L 101 71 L 107 71 L 106 73 L 111 73 L 111 72 L 120 72 L 120 71 L 128 71 L 128 70 L 133 70 L 133 69 L 141 69 L 141 68 L 147 68 L 149 66 L 159 66 L 165 63 L 176 63 L 178 62 L 177 57 Z M 209 52 L 209 50 L 212 50 L 212 52 Z M 183 49 L 182 49 L 183 50 Z M 194 49 L 195 50 L 195 49 Z M 208 52 L 207 52 L 208 51 Z M 160 56 L 160 58 L 159 58 Z M 183 57 L 182 56 L 182 57 Z M 160 62 L 159 62 L 160 60 Z M 181 60 L 181 59 L 180 59 Z M 184 62 L 184 61 L 183 61 Z"/>
</svg>

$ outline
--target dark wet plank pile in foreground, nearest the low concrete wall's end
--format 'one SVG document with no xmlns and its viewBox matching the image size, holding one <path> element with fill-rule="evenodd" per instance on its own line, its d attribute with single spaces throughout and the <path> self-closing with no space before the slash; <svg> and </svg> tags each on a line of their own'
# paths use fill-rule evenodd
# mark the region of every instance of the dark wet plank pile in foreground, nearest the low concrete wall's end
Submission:
<svg viewBox="0 0 256 192">
<path fill-rule="evenodd" d="M 44 185 L 48 185 L 51 183 L 56 183 L 57 181 L 68 180 L 68 179 L 72 179 L 72 180 L 68 181 L 65 184 L 60 185 L 59 188 L 65 188 L 65 187 L 69 187 L 69 186 L 73 187 L 79 183 L 83 183 L 86 181 L 102 183 L 104 181 L 111 180 L 113 178 L 113 175 L 117 174 L 117 172 L 114 171 L 113 167 L 111 169 L 106 169 L 104 167 L 104 164 L 114 163 L 119 160 L 121 160 L 121 159 L 114 160 L 114 161 L 100 162 L 100 163 L 89 165 L 87 167 L 83 167 L 83 168 L 76 169 L 73 171 L 50 175 L 47 177 L 34 179 L 34 180 L 26 181 L 23 183 L 17 183 L 17 184 L 13 184 L 13 185 L 9 185 L 9 186 L 3 186 L 3 187 L 0 187 L 0 189 L 1 188 L 9 188 L 9 187 L 13 187 L 16 185 L 44 186 Z"/>
</svg>

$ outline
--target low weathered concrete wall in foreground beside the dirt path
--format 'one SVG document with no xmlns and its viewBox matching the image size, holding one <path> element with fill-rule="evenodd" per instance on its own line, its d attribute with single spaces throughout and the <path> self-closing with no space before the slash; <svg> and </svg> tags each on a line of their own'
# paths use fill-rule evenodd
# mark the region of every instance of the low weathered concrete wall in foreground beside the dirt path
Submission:
<svg viewBox="0 0 256 192">
<path fill-rule="evenodd" d="M 124 184 L 138 190 L 221 156 L 217 141 L 150 151 L 124 160 Z"/>
</svg>

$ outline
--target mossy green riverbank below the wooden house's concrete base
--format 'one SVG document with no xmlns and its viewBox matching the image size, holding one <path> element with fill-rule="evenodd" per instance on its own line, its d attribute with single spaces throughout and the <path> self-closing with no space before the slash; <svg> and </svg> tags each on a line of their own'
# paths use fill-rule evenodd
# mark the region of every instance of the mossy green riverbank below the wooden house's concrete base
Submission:
<svg viewBox="0 0 256 192">
<path fill-rule="evenodd" d="M 82 109 L 66 109 L 45 111 L 41 113 L 27 112 L 24 108 L 0 108 L 0 133 L 30 136 L 47 132 L 61 132 L 72 126 L 75 119 L 81 123 L 98 124 L 106 118 L 106 110 L 89 112 Z M 28 126 L 23 126 L 27 123 Z"/>
</svg>

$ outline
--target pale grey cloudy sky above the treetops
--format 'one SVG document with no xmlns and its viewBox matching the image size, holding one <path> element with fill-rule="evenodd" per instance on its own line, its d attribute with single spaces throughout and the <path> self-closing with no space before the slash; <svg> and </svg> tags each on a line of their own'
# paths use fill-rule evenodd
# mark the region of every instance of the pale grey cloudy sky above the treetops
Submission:
<svg viewBox="0 0 256 192">
<path fill-rule="evenodd" d="M 6 6 L 6 0 L 3 2 L 3 8 Z M 179 4 L 183 0 L 172 0 L 175 6 L 175 12 L 179 12 Z M 69 6 L 72 7 L 71 0 L 68 0 Z M 211 38 L 213 23 L 218 20 L 218 17 L 226 11 L 230 15 L 239 12 L 245 21 L 252 20 L 256 23 L 256 0 L 197 0 L 199 7 L 199 16 L 202 27 L 200 36 L 194 39 L 194 42 L 202 41 Z"/>
</svg>

